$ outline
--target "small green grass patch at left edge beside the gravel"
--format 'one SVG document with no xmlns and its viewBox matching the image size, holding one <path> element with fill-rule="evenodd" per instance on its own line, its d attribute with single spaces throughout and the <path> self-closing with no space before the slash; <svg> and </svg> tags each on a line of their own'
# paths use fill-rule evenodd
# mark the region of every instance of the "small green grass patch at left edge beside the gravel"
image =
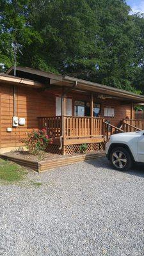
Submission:
<svg viewBox="0 0 144 256">
<path fill-rule="evenodd" d="M 0 159 L 0 180 L 5 182 L 19 182 L 24 179 L 26 169 L 19 164 Z"/>
</svg>

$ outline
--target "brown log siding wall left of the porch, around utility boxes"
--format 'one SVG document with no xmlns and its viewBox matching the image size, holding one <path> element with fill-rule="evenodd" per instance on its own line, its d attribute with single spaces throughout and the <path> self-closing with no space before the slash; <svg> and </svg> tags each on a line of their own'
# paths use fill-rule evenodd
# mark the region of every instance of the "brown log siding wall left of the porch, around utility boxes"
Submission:
<svg viewBox="0 0 144 256">
<path fill-rule="evenodd" d="M 38 128 L 38 116 L 55 114 L 55 97 L 50 93 L 36 92 L 30 88 L 16 87 L 16 113 L 26 118 L 25 125 L 12 127 L 13 116 L 13 86 L 1 85 L 1 147 L 19 147 L 20 140 L 26 138 L 33 128 Z M 6 128 L 12 127 L 12 132 Z"/>
</svg>

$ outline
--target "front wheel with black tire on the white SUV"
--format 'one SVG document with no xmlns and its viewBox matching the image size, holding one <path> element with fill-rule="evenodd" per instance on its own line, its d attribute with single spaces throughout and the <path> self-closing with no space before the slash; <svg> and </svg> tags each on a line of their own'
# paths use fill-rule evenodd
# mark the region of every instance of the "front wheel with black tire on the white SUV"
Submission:
<svg viewBox="0 0 144 256">
<path fill-rule="evenodd" d="M 129 150 L 123 147 L 115 147 L 110 152 L 111 165 L 115 170 L 127 172 L 132 166 L 132 157 Z"/>
</svg>

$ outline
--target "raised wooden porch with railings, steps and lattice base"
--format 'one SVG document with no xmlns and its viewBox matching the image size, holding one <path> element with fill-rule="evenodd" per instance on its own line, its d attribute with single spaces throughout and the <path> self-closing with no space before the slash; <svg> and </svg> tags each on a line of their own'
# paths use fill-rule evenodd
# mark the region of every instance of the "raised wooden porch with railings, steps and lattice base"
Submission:
<svg viewBox="0 0 144 256">
<path fill-rule="evenodd" d="M 46 129 L 62 154 L 73 152 L 79 145 L 86 143 L 90 150 L 104 150 L 104 145 L 111 134 L 144 130 L 144 120 L 124 119 L 120 127 L 108 124 L 106 118 L 90 116 L 43 116 L 38 117 L 38 128 Z M 92 147 L 94 146 L 94 147 Z M 71 147 L 71 148 L 70 148 Z M 74 150 L 72 150 L 72 147 Z M 65 149 L 66 148 L 66 153 Z M 89 150 L 89 152 L 90 152 Z"/>
</svg>

